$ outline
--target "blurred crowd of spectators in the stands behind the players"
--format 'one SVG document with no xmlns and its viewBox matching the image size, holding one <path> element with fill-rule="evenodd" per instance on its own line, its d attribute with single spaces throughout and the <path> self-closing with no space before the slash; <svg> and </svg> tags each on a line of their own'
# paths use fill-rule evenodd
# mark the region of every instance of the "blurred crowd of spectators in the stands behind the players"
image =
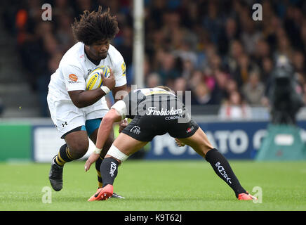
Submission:
<svg viewBox="0 0 306 225">
<path fill-rule="evenodd" d="M 15 34 L 27 79 L 46 108 L 47 86 L 74 43 L 71 24 L 84 10 L 109 7 L 120 32 L 112 44 L 124 56 L 133 84 L 133 0 L 53 0 L 41 20 L 39 0 L 11 1 L 4 21 Z M 262 5 L 254 21 L 252 6 Z M 295 69 L 306 102 L 306 2 L 302 0 L 145 0 L 145 84 L 191 91 L 193 105 L 220 105 L 222 118 L 251 117 L 269 105 L 270 74 L 279 56 Z M 135 65 L 134 65 L 135 66 Z"/>
</svg>

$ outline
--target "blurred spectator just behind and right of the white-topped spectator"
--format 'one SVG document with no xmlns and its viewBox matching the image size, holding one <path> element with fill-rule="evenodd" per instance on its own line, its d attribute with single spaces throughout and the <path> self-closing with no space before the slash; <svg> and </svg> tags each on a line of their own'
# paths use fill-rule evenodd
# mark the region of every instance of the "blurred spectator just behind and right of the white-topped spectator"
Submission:
<svg viewBox="0 0 306 225">
<path fill-rule="evenodd" d="M 260 105 L 265 94 L 265 86 L 260 82 L 258 72 L 251 72 L 248 82 L 242 86 L 242 94 L 249 105 Z"/>
</svg>

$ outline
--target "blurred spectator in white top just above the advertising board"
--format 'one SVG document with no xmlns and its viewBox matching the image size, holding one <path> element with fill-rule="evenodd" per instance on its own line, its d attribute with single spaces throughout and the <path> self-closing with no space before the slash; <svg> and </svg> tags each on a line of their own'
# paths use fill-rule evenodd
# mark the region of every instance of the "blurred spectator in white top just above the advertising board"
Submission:
<svg viewBox="0 0 306 225">
<path fill-rule="evenodd" d="M 250 119 L 251 108 L 242 101 L 238 91 L 233 91 L 228 100 L 222 103 L 219 117 L 222 120 Z"/>
</svg>

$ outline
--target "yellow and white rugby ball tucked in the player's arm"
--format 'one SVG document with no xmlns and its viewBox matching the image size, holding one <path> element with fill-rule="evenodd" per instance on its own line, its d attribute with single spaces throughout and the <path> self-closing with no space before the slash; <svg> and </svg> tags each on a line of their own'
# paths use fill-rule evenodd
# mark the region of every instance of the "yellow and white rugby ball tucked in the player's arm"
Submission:
<svg viewBox="0 0 306 225">
<path fill-rule="evenodd" d="M 110 70 L 106 65 L 100 65 L 91 71 L 86 79 L 86 90 L 94 90 L 102 85 L 102 76 L 109 77 Z"/>
</svg>

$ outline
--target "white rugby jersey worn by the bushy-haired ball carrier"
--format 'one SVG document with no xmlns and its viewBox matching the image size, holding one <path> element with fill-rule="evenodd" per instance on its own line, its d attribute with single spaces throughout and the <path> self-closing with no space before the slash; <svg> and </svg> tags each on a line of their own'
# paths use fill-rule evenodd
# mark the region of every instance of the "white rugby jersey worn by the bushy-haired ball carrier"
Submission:
<svg viewBox="0 0 306 225">
<path fill-rule="evenodd" d="M 115 86 L 126 84 L 126 64 L 121 53 L 114 46 L 109 44 L 107 57 L 101 60 L 99 65 L 95 65 L 87 58 L 84 47 L 82 42 L 74 44 L 62 56 L 58 70 L 51 75 L 48 85 L 49 93 L 60 101 L 71 101 L 68 91 L 85 90 L 88 74 L 100 65 L 107 65 L 112 69 L 116 81 Z"/>
</svg>

